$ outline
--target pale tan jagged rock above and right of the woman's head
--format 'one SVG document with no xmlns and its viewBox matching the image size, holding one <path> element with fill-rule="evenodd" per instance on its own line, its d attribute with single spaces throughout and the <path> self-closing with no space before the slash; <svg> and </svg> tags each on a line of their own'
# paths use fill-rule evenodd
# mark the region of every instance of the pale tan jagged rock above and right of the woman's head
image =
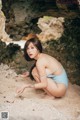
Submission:
<svg viewBox="0 0 80 120">
<path fill-rule="evenodd" d="M 64 31 L 62 23 L 64 22 L 63 17 L 50 17 L 44 16 L 39 18 L 38 27 L 42 30 L 40 34 L 37 34 L 42 42 L 50 41 L 52 39 L 58 40 Z"/>
</svg>

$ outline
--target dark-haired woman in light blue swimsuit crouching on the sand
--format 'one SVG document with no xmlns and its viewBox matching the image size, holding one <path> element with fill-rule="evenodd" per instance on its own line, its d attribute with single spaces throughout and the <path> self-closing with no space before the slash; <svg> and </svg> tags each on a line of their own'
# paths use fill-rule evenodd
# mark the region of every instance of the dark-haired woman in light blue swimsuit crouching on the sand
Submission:
<svg viewBox="0 0 80 120">
<path fill-rule="evenodd" d="M 43 89 L 49 96 L 62 97 L 68 87 L 66 72 L 59 61 L 54 57 L 42 53 L 41 42 L 32 38 L 24 46 L 25 59 L 35 60 L 32 76 L 36 81 L 34 85 L 24 85 L 17 90 L 22 93 L 25 88 Z"/>
</svg>

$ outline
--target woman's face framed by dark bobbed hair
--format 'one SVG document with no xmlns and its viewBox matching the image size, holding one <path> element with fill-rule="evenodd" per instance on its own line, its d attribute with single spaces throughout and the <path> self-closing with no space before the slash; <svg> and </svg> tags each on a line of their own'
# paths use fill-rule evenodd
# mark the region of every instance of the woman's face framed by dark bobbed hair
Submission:
<svg viewBox="0 0 80 120">
<path fill-rule="evenodd" d="M 31 59 L 36 59 L 39 54 L 39 51 L 32 42 L 28 45 L 27 54 Z"/>
</svg>

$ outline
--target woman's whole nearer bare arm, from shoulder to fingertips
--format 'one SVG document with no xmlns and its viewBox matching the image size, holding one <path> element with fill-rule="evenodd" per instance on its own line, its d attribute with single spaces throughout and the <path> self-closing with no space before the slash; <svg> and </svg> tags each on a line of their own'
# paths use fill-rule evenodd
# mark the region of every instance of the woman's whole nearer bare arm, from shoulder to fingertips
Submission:
<svg viewBox="0 0 80 120">
<path fill-rule="evenodd" d="M 28 84 L 23 85 L 17 90 L 17 93 L 22 93 L 26 88 L 35 88 L 35 89 L 41 89 L 47 87 L 47 78 L 46 78 L 46 70 L 45 70 L 45 61 L 39 60 L 36 63 L 36 68 L 38 70 L 40 83 L 36 83 L 34 85 Z"/>
</svg>

